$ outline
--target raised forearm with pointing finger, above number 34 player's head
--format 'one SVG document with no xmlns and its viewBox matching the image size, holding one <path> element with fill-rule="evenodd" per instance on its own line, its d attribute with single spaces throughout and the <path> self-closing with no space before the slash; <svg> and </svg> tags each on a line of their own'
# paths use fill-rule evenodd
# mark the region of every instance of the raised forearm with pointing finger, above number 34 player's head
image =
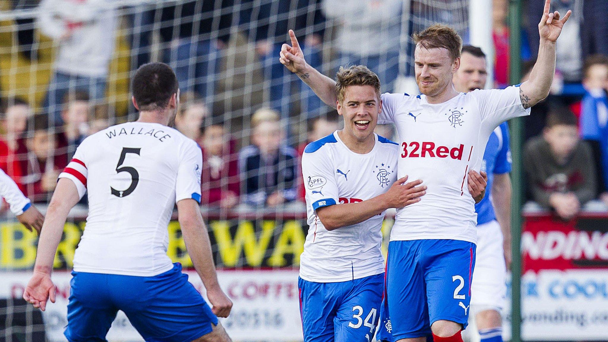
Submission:
<svg viewBox="0 0 608 342">
<path fill-rule="evenodd" d="M 282 65 L 298 75 L 326 105 L 336 108 L 336 81 L 306 63 L 293 30 L 289 30 L 289 38 L 291 38 L 291 46 L 283 44 L 281 47 L 279 60 Z"/>
</svg>

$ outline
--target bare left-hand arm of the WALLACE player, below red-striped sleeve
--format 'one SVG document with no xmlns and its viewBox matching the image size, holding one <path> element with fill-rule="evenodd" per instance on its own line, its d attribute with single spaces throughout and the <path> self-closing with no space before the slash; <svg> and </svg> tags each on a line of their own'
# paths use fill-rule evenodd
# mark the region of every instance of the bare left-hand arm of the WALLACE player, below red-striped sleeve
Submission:
<svg viewBox="0 0 608 342">
<path fill-rule="evenodd" d="M 66 223 L 70 209 L 80 200 L 78 189 L 72 180 L 61 178 L 57 182 L 55 192 L 46 211 L 46 219 L 38 240 L 38 251 L 34 274 L 27 283 L 23 298 L 44 311 L 46 302 L 55 302 L 55 284 L 50 280 L 53 270 L 53 260 L 57 252 L 57 245 L 61 240 L 63 226 Z"/>
</svg>

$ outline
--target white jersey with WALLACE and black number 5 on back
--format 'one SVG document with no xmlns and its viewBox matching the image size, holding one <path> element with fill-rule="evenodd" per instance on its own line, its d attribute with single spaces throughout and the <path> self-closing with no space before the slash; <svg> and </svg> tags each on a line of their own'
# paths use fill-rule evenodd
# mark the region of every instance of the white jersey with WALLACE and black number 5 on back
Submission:
<svg viewBox="0 0 608 342">
<path fill-rule="evenodd" d="M 201 148 L 173 128 L 128 122 L 85 139 L 60 174 L 89 215 L 74 271 L 155 276 L 171 270 L 167 225 L 173 206 L 201 200 Z"/>
</svg>

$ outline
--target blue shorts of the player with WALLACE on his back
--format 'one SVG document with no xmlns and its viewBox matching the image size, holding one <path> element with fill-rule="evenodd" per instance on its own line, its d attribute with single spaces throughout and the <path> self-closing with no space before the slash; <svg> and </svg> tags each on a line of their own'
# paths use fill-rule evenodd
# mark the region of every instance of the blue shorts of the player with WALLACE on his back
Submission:
<svg viewBox="0 0 608 342">
<path fill-rule="evenodd" d="M 72 276 L 64 332 L 71 342 L 106 341 L 118 310 L 147 342 L 190 342 L 218 324 L 180 263 L 151 277 L 87 272 Z"/>
</svg>

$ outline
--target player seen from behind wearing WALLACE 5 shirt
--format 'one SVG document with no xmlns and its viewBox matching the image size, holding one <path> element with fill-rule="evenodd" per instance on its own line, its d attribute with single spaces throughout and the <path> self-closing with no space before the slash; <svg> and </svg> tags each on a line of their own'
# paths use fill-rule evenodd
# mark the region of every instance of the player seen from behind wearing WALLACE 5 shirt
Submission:
<svg viewBox="0 0 608 342">
<path fill-rule="evenodd" d="M 230 341 L 217 316 L 232 302 L 219 288 L 202 221 L 201 148 L 169 127 L 178 81 L 163 63 L 137 69 L 136 122 L 92 134 L 59 176 L 23 297 L 44 310 L 55 301 L 53 259 L 72 206 L 88 192 L 89 215 L 74 255 L 67 305 L 69 341 L 105 341 L 118 310 L 146 341 Z M 167 225 L 177 203 L 188 254 L 211 309 L 167 256 Z"/>
</svg>

